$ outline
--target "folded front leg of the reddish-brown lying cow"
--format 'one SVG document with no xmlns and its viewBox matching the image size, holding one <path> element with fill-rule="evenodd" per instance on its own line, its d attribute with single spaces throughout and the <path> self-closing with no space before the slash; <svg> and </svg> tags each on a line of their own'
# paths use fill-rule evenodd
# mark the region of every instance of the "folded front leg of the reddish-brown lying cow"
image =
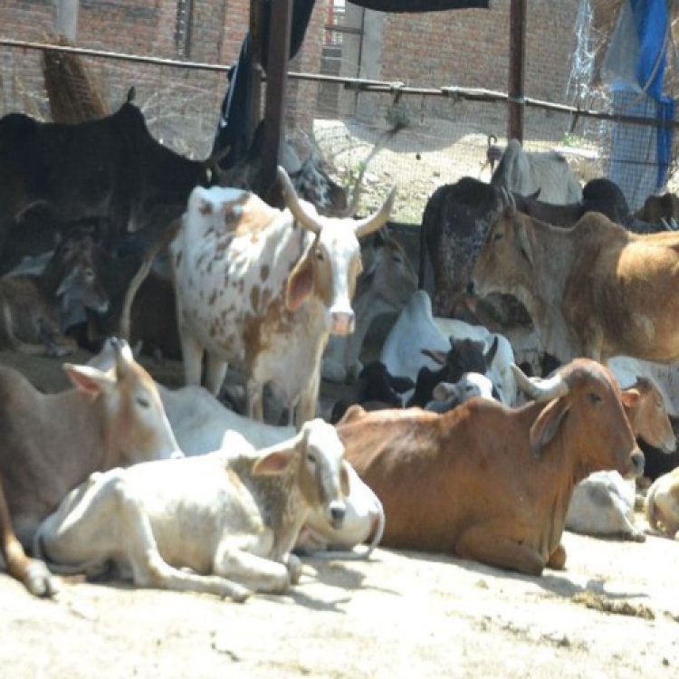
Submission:
<svg viewBox="0 0 679 679">
<path fill-rule="evenodd" d="M 545 559 L 538 551 L 506 537 L 487 523 L 464 531 L 454 550 L 463 559 L 481 561 L 500 569 L 518 570 L 527 575 L 540 575 L 545 567 Z"/>
</svg>

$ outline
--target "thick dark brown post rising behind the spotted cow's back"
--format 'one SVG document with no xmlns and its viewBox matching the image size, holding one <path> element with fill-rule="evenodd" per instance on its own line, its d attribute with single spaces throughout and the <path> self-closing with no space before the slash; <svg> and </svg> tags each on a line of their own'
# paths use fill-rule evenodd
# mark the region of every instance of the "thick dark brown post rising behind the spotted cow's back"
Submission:
<svg viewBox="0 0 679 679">
<path fill-rule="evenodd" d="M 276 165 L 281 157 L 285 135 L 285 90 L 290 33 L 292 28 L 292 0 L 272 2 L 269 31 L 269 53 L 266 67 L 266 103 L 264 105 L 264 135 L 260 186 L 264 199 L 272 201 L 276 181 Z"/>
</svg>

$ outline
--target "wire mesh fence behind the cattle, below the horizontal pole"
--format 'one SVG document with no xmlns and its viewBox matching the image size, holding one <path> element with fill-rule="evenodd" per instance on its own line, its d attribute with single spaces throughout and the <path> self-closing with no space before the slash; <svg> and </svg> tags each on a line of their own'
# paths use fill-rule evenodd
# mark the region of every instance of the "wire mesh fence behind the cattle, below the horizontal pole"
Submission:
<svg viewBox="0 0 679 679">
<path fill-rule="evenodd" d="M 330 1 L 322 5 L 327 13 L 322 19 L 318 58 L 310 62 L 307 57 L 303 65 L 319 74 L 356 77 L 361 56 L 352 41 L 361 29 L 345 24 L 343 4 Z M 113 48 L 114 44 L 115 27 L 108 36 L 108 46 Z M 182 53 L 186 53 L 184 43 Z M 177 57 L 177 53 L 160 50 L 158 56 Z M 81 60 L 111 111 L 120 106 L 134 85 L 136 102 L 154 137 L 178 152 L 206 157 L 225 94 L 225 72 L 87 56 Z M 301 70 L 301 65 L 300 59 L 293 61 L 291 71 Z M 566 87 L 564 82 L 564 92 Z M 502 101 L 361 91 L 339 82 L 293 78 L 288 103 L 291 138 L 304 139 L 307 148 L 319 148 L 331 174 L 345 186 L 358 175 L 363 159 L 382 134 L 394 124 L 402 126 L 368 167 L 359 211 L 378 206 L 389 187 L 397 184 L 394 217 L 416 225 L 437 186 L 464 176 L 491 177 L 486 162 L 489 136 L 496 137 L 500 147 L 506 143 L 507 107 Z M 613 111 L 606 91 L 601 91 L 592 105 Z M 0 106 L 2 113 L 20 110 L 49 120 L 39 51 L 0 46 Z M 613 137 L 609 121 L 574 120 L 570 113 L 526 110 L 525 148 L 557 148 L 583 183 L 607 175 Z"/>
</svg>

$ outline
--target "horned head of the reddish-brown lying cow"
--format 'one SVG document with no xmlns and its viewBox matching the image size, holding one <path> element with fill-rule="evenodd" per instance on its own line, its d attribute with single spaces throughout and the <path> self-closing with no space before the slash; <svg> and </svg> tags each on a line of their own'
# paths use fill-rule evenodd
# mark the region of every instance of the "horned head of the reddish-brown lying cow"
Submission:
<svg viewBox="0 0 679 679">
<path fill-rule="evenodd" d="M 575 359 L 548 379 L 529 379 L 516 366 L 512 369 L 529 397 L 547 402 L 531 426 L 535 457 L 560 438 L 575 454 L 577 481 L 605 469 L 631 477 L 642 473 L 644 454 L 636 446 L 623 394 L 608 368 Z"/>
</svg>

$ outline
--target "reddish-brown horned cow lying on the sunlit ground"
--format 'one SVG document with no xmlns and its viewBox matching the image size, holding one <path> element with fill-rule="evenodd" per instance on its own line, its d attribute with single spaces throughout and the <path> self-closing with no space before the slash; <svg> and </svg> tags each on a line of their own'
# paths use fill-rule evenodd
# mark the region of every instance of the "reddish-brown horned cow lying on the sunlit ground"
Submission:
<svg viewBox="0 0 679 679">
<path fill-rule="evenodd" d="M 607 368 L 577 359 L 535 381 L 515 371 L 536 399 L 518 408 L 482 398 L 445 415 L 354 406 L 336 426 L 349 463 L 384 506 L 385 546 L 530 575 L 563 569 L 575 483 L 600 469 L 641 473 L 623 408 L 634 397 Z"/>
</svg>

